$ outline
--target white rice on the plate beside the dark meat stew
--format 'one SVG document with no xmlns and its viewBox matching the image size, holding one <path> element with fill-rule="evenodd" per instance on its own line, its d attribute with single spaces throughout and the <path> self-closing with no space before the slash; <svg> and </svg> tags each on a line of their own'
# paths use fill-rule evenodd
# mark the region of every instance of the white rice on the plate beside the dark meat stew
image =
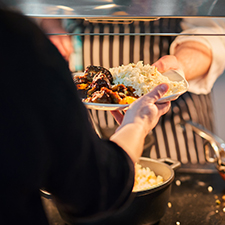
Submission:
<svg viewBox="0 0 225 225">
<path fill-rule="evenodd" d="M 150 92 L 161 83 L 168 83 L 169 90 L 165 96 L 172 95 L 185 89 L 184 81 L 170 81 L 168 77 L 158 72 L 155 66 L 143 65 L 142 61 L 137 64 L 130 63 L 114 68 L 109 71 L 113 76 L 114 84 L 124 84 L 135 89 L 134 94 L 141 97 Z"/>
</svg>

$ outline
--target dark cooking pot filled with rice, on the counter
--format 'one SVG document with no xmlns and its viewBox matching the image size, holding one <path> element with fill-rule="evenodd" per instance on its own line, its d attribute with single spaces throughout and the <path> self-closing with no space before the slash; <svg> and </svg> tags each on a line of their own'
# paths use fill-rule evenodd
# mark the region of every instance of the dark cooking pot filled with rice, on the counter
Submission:
<svg viewBox="0 0 225 225">
<path fill-rule="evenodd" d="M 179 166 L 180 162 L 170 159 L 141 157 L 135 165 L 135 184 L 131 200 L 121 210 L 102 220 L 78 225 L 156 224 L 166 212 L 174 169 Z"/>
</svg>

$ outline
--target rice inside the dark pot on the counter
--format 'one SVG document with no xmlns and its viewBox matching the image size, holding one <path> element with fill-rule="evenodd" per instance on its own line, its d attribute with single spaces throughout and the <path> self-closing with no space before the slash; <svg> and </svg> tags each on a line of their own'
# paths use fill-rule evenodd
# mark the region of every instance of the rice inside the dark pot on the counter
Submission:
<svg viewBox="0 0 225 225">
<path fill-rule="evenodd" d="M 148 167 L 144 168 L 140 164 L 135 163 L 135 180 L 133 192 L 143 191 L 155 187 L 163 183 L 163 177 L 150 170 Z"/>
</svg>

